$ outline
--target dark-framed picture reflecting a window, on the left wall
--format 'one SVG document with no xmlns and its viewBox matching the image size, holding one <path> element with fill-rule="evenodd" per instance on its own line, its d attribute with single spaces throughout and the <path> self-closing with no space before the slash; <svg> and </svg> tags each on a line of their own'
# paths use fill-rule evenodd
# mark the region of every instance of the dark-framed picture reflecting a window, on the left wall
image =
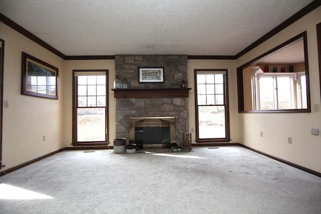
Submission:
<svg viewBox="0 0 321 214">
<path fill-rule="evenodd" d="M 58 68 L 22 52 L 21 94 L 58 100 Z"/>
</svg>

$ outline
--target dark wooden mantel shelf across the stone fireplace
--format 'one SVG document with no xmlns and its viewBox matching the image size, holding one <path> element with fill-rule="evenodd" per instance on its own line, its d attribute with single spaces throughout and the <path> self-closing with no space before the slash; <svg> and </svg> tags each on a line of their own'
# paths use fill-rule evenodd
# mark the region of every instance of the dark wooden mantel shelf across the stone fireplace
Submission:
<svg viewBox="0 0 321 214">
<path fill-rule="evenodd" d="M 189 97 L 192 88 L 129 88 L 111 89 L 115 98 Z"/>
</svg>

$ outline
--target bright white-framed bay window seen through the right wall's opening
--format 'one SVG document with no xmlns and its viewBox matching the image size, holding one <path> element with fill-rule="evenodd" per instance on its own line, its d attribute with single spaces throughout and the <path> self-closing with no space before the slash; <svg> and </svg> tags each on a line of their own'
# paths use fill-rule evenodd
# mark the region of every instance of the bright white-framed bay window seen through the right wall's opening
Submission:
<svg viewBox="0 0 321 214">
<path fill-rule="evenodd" d="M 305 83 L 305 72 L 264 73 L 254 76 L 254 110 L 306 108 Z"/>
</svg>

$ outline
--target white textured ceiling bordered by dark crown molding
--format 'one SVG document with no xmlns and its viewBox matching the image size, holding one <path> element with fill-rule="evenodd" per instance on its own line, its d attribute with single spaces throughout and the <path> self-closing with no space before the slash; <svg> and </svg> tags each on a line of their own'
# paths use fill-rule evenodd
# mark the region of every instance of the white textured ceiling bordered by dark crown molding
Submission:
<svg viewBox="0 0 321 214">
<path fill-rule="evenodd" d="M 1 0 L 0 13 L 66 56 L 235 56 L 311 2 Z"/>
</svg>

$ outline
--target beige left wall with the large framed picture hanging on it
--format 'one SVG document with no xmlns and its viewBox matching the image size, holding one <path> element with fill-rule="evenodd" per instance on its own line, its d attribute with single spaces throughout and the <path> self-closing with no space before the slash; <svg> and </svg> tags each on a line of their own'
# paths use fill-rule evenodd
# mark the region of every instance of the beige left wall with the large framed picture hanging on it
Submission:
<svg viewBox="0 0 321 214">
<path fill-rule="evenodd" d="M 0 22 L 5 41 L 2 170 L 64 147 L 64 60 Z M 59 69 L 59 99 L 21 95 L 22 52 Z M 46 141 L 43 141 L 46 135 Z"/>
</svg>

